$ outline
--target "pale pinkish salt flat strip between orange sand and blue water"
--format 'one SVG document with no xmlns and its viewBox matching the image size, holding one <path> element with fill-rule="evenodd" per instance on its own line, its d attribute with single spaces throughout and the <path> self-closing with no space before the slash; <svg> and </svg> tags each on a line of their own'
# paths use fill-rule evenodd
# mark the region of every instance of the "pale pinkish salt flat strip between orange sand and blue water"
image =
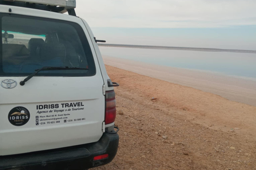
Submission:
<svg viewBox="0 0 256 170">
<path fill-rule="evenodd" d="M 256 106 L 256 79 L 250 80 L 206 71 L 156 66 L 110 56 L 103 56 L 103 59 L 107 65 Z"/>
</svg>

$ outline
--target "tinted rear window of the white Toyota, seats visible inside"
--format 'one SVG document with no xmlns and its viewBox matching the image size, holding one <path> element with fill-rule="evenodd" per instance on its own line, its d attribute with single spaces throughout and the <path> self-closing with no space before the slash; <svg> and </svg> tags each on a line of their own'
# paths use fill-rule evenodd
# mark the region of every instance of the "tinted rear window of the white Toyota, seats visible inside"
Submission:
<svg viewBox="0 0 256 170">
<path fill-rule="evenodd" d="M 88 70 L 47 70 L 37 76 L 92 76 L 96 73 L 90 45 L 73 22 L 1 14 L 0 76 L 28 76 L 44 67 Z"/>
</svg>

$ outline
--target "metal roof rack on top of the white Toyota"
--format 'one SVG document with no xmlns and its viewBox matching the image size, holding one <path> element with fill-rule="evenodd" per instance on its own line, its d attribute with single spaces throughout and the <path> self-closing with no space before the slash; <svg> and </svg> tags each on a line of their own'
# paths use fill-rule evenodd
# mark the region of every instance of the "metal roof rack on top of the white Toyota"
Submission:
<svg viewBox="0 0 256 170">
<path fill-rule="evenodd" d="M 0 5 L 40 9 L 76 16 L 76 0 L 0 0 Z"/>
</svg>

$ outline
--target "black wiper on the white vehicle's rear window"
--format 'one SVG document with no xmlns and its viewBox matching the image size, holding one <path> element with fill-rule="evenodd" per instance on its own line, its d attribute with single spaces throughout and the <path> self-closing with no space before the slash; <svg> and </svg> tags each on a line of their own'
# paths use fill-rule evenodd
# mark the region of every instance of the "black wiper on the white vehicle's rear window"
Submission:
<svg viewBox="0 0 256 170">
<path fill-rule="evenodd" d="M 88 68 L 81 68 L 81 67 L 42 67 L 40 69 L 35 70 L 34 73 L 29 75 L 27 78 L 25 78 L 23 81 L 20 82 L 21 86 L 25 85 L 25 82 L 27 82 L 29 79 L 34 77 L 38 72 L 40 71 L 46 71 L 46 70 L 88 70 Z"/>
</svg>

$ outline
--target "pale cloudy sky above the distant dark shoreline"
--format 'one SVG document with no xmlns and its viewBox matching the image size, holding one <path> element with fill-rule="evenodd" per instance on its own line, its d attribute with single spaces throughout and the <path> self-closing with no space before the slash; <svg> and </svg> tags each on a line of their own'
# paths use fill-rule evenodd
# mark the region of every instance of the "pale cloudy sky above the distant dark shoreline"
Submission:
<svg viewBox="0 0 256 170">
<path fill-rule="evenodd" d="M 76 1 L 107 43 L 256 49 L 256 0 Z"/>
</svg>

